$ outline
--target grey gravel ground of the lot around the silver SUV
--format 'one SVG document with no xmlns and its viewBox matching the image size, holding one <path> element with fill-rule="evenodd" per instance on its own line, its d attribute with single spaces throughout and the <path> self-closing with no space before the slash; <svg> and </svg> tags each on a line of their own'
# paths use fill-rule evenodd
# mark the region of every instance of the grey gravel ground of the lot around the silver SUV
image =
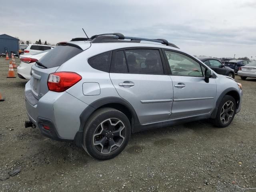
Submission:
<svg viewBox="0 0 256 192">
<path fill-rule="evenodd" d="M 236 76 L 244 100 L 228 128 L 204 120 L 136 133 L 119 156 L 98 161 L 72 143 L 24 128 L 27 80 L 6 78 L 7 73 L 8 62 L 0 58 L 0 93 L 6 98 L 0 102 L 0 192 L 256 188 L 256 79 Z M 16 169 L 20 173 L 8 178 Z"/>
</svg>

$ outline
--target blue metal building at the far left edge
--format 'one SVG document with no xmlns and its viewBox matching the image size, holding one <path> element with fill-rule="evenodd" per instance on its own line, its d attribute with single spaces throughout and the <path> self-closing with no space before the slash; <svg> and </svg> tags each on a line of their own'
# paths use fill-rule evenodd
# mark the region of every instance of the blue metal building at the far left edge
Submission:
<svg viewBox="0 0 256 192">
<path fill-rule="evenodd" d="M 8 51 L 9 57 L 11 56 L 10 52 L 19 54 L 19 39 L 6 34 L 0 35 L 0 54 L 6 51 Z"/>
</svg>

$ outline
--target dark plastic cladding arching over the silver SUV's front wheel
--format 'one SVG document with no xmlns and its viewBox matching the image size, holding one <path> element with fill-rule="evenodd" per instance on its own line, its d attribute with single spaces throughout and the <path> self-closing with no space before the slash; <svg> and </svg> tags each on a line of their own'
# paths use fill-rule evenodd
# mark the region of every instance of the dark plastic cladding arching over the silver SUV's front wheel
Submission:
<svg viewBox="0 0 256 192">
<path fill-rule="evenodd" d="M 218 111 L 218 106 L 225 95 L 232 96 L 236 100 L 236 109 L 238 108 L 239 102 L 240 102 L 240 96 L 239 96 L 238 91 L 234 88 L 227 88 L 226 90 L 224 90 L 222 92 L 222 94 L 220 94 L 220 96 L 216 102 L 215 109 L 213 110 L 210 118 L 214 119 L 216 117 L 216 114 Z"/>
</svg>

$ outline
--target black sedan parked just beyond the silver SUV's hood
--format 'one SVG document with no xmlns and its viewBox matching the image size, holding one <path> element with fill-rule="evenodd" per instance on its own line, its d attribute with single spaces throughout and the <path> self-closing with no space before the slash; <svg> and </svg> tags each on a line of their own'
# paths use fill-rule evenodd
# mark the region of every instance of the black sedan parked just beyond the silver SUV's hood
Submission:
<svg viewBox="0 0 256 192">
<path fill-rule="evenodd" d="M 214 70 L 216 73 L 221 75 L 230 76 L 235 78 L 235 72 L 233 69 L 224 66 L 220 60 L 211 57 L 197 57 L 199 60 L 204 62 L 208 67 Z"/>
</svg>

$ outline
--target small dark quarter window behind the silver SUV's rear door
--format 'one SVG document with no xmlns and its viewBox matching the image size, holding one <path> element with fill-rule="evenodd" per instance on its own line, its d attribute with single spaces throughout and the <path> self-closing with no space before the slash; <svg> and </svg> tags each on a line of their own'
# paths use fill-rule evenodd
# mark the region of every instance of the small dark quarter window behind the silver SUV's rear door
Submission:
<svg viewBox="0 0 256 192">
<path fill-rule="evenodd" d="M 88 59 L 88 63 L 94 69 L 104 71 L 104 72 L 109 72 L 110 56 L 111 56 L 110 51 L 106 53 L 102 53 Z"/>
</svg>

